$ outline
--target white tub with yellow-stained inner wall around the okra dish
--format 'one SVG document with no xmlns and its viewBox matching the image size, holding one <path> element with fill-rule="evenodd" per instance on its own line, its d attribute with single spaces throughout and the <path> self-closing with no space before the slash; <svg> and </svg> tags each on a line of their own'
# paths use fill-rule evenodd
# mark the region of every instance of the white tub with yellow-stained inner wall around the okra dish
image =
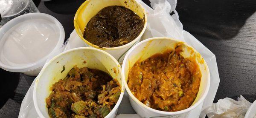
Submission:
<svg viewBox="0 0 256 118">
<path fill-rule="evenodd" d="M 49 118 L 45 99 L 50 95 L 50 86 L 60 79 L 65 78 L 70 69 L 76 65 L 79 68 L 88 67 L 102 70 L 111 75 L 112 78 L 116 78 L 119 81 L 122 88 L 121 95 L 114 108 L 105 117 L 114 118 L 117 113 L 118 106 L 122 101 L 125 89 L 121 79 L 121 66 L 115 60 L 115 58 L 113 58 L 113 56 L 107 52 L 90 47 L 70 49 L 52 58 L 52 60 L 50 60 L 49 63 L 44 66 L 36 78 L 33 90 L 33 100 L 38 115 L 41 118 Z M 65 66 L 65 70 L 61 73 L 63 66 Z"/>
</svg>

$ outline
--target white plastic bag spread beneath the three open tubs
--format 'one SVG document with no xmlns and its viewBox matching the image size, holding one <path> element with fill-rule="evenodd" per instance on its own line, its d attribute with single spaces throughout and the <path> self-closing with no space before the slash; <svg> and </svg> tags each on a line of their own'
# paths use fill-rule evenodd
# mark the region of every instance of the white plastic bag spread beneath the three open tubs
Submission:
<svg viewBox="0 0 256 118">
<path fill-rule="evenodd" d="M 180 23 L 180 20 L 178 19 L 178 13 L 177 11 L 175 11 L 177 0 L 150 0 L 153 9 L 143 3 L 143 1 L 137 1 L 145 8 L 148 16 L 148 25 L 142 37 L 142 40 L 150 37 L 172 37 L 188 43 L 204 57 L 204 60 L 209 67 L 211 77 L 209 92 L 204 100 L 204 103 L 198 105 L 198 107 L 186 113 L 185 115 L 187 118 L 204 118 L 206 114 L 201 111 L 206 109 L 207 106 L 209 107 L 212 105 L 220 82 L 215 55 L 211 51 L 209 51 L 209 49 L 207 49 L 202 43 L 200 43 L 195 37 L 189 34 L 189 32 L 183 30 L 182 23 Z M 175 14 L 171 16 L 169 14 L 171 12 L 174 12 Z M 69 42 L 67 43 L 65 50 L 81 46 L 85 46 L 85 44 L 76 34 L 76 32 L 73 31 L 70 35 Z M 34 83 L 32 83 L 32 86 L 33 84 Z M 27 92 L 25 98 L 22 101 L 19 118 L 37 117 L 32 101 L 32 86 L 30 87 L 29 91 Z M 123 100 L 126 99 L 128 100 L 128 96 L 124 95 Z M 118 114 L 121 115 L 118 115 L 117 118 L 128 118 L 135 116 L 122 115 L 122 113 L 134 114 L 134 111 L 131 110 L 132 107 L 125 105 L 129 104 L 128 102 L 129 101 L 121 102 L 118 111 Z"/>
</svg>

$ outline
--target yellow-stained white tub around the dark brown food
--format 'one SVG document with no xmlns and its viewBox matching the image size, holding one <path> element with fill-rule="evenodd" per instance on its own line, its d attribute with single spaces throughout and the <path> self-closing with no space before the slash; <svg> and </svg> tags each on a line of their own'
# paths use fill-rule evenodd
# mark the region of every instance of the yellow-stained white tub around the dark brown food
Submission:
<svg viewBox="0 0 256 118">
<path fill-rule="evenodd" d="M 100 47 L 96 46 L 93 43 L 90 43 L 86 39 L 84 39 L 84 28 L 90 19 L 95 16 L 101 9 L 107 6 L 124 6 L 128 9 L 131 9 L 138 16 L 144 19 L 144 27 L 140 35 L 131 41 L 122 46 L 118 47 Z M 101 49 L 109 54 L 111 54 L 118 62 L 122 62 L 125 53 L 135 44 L 140 42 L 140 39 L 145 32 L 147 26 L 147 14 L 143 6 L 136 2 L 136 0 L 86 0 L 77 10 L 75 18 L 74 18 L 74 26 L 76 29 L 76 33 L 79 35 L 81 40 L 83 40 L 87 46 L 94 47 L 96 49 Z"/>
</svg>

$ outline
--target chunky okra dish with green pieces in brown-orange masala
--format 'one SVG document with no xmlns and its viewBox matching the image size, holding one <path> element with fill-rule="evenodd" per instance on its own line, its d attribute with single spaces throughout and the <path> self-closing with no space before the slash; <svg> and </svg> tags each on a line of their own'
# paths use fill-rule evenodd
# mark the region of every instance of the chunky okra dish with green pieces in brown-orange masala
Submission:
<svg viewBox="0 0 256 118">
<path fill-rule="evenodd" d="M 116 79 L 98 69 L 74 66 L 64 79 L 52 85 L 46 98 L 51 118 L 104 118 L 120 96 Z"/>
</svg>

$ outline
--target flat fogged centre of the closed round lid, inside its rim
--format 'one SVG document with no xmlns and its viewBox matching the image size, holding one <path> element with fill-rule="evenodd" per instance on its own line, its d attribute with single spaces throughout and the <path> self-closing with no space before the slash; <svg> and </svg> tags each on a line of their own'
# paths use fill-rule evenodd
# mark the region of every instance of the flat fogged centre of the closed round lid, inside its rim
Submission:
<svg viewBox="0 0 256 118">
<path fill-rule="evenodd" d="M 58 43 L 55 24 L 43 19 L 18 23 L 3 36 L 1 61 L 9 66 L 26 66 L 44 58 Z"/>
</svg>

